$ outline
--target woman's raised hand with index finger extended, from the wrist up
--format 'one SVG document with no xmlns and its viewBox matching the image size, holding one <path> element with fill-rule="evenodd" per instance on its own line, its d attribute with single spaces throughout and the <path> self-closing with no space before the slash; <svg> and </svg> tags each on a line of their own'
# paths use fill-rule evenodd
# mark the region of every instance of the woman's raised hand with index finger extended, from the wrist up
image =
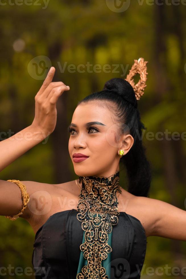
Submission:
<svg viewBox="0 0 186 279">
<path fill-rule="evenodd" d="M 64 91 L 70 89 L 62 81 L 52 82 L 55 68 L 51 67 L 40 90 L 35 96 L 35 117 L 31 124 L 34 128 L 41 129 L 46 137 L 51 134 L 57 122 L 56 102 Z"/>
</svg>

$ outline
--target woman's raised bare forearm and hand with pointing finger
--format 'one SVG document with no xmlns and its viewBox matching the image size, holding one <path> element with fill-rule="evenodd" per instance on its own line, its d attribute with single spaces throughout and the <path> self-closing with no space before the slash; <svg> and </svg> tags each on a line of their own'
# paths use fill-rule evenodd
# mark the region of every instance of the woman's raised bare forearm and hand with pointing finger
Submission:
<svg viewBox="0 0 186 279">
<path fill-rule="evenodd" d="M 56 102 L 59 96 L 69 88 L 61 81 L 51 82 L 54 73 L 55 68 L 51 67 L 35 96 L 35 117 L 32 124 L 0 142 L 0 171 L 44 140 L 55 129 L 57 120 Z"/>
</svg>

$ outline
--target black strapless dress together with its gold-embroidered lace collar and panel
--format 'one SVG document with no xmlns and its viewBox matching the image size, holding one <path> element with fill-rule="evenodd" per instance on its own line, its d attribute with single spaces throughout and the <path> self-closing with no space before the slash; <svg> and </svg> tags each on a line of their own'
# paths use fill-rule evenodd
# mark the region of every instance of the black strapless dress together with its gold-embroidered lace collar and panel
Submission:
<svg viewBox="0 0 186 279">
<path fill-rule="evenodd" d="M 37 278 L 140 278 L 146 234 L 139 219 L 119 212 L 119 171 L 82 179 L 77 209 L 56 212 L 35 235 Z"/>
</svg>

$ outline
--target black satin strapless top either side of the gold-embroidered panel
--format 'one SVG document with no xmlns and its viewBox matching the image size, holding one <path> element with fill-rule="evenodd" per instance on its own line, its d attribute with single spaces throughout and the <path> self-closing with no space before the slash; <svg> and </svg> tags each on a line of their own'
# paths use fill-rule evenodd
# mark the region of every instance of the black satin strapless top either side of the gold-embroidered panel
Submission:
<svg viewBox="0 0 186 279">
<path fill-rule="evenodd" d="M 77 213 L 76 209 L 56 212 L 36 232 L 32 253 L 36 279 L 76 279 L 84 265 L 80 251 L 84 231 Z M 137 279 L 146 254 L 145 229 L 139 219 L 119 213 L 109 237 L 112 251 L 102 262 L 109 268 L 109 279 Z"/>
</svg>

